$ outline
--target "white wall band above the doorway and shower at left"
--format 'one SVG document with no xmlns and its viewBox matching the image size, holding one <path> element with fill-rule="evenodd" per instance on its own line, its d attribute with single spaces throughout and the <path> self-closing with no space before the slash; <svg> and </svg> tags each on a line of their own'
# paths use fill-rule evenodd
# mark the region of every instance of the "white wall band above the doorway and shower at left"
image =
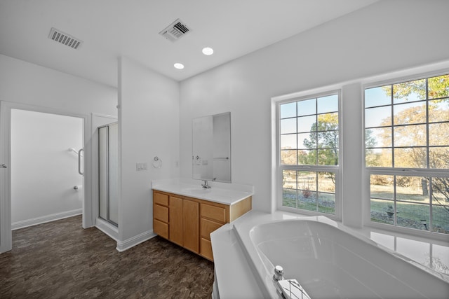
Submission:
<svg viewBox="0 0 449 299">
<path fill-rule="evenodd" d="M 0 101 L 117 115 L 116 88 L 5 55 L 0 55 Z"/>
</svg>

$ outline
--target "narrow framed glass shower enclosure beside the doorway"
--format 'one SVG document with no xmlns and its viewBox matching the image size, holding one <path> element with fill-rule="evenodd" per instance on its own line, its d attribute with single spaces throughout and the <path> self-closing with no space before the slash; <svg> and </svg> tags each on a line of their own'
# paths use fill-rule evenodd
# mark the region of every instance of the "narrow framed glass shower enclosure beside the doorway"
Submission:
<svg viewBox="0 0 449 299">
<path fill-rule="evenodd" d="M 98 183 L 100 218 L 119 223 L 119 124 L 98 127 Z"/>
</svg>

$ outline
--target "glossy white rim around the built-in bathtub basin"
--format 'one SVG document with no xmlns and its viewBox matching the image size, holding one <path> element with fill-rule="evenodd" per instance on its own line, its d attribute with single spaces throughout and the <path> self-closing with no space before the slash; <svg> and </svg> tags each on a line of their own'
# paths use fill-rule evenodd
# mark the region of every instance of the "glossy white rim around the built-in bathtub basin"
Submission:
<svg viewBox="0 0 449 299">
<path fill-rule="evenodd" d="M 287 218 L 283 218 L 283 216 L 286 215 Z M 257 279 L 257 283 L 259 284 L 260 288 L 262 288 L 263 293 L 267 296 L 267 298 L 277 298 L 277 296 L 279 296 L 279 293 L 276 292 L 276 288 L 274 287 L 272 281 L 272 276 L 265 269 L 264 263 L 261 263 L 260 253 L 257 251 L 255 244 L 253 244 L 253 240 L 251 239 L 250 235 L 251 232 L 253 232 L 253 229 L 259 225 L 279 223 L 281 221 L 315 221 L 334 226 L 335 228 L 342 230 L 343 232 L 349 233 L 350 235 L 356 237 L 357 239 L 360 239 L 362 242 L 365 242 L 372 246 L 376 246 L 380 250 L 385 251 L 386 253 L 389 253 L 392 256 L 395 256 L 396 258 L 405 261 L 406 263 L 410 263 L 411 265 L 414 265 L 420 270 L 424 270 L 425 272 L 428 272 L 429 274 L 433 275 L 436 279 L 440 279 L 446 284 L 449 284 L 449 275 L 437 272 L 436 270 L 433 270 L 425 265 L 422 265 L 421 263 L 418 263 L 417 261 L 411 258 L 403 256 L 401 253 L 389 249 L 386 246 L 375 242 L 373 239 L 366 237 L 366 235 L 363 235 L 361 232 L 354 230 L 353 228 L 349 228 L 343 223 L 334 221 L 333 219 L 330 219 L 326 216 L 322 215 L 307 216 L 300 214 L 290 214 L 285 212 L 274 214 L 262 214 L 254 211 L 254 213 L 250 213 L 248 217 L 246 217 L 245 221 L 243 221 L 243 219 L 242 221 L 236 221 L 232 225 L 232 229 L 235 232 L 236 238 L 239 241 L 241 248 L 243 249 L 243 252 L 246 255 L 246 258 L 250 260 L 250 263 L 248 264 L 250 265 L 251 270 L 253 271 Z"/>
</svg>

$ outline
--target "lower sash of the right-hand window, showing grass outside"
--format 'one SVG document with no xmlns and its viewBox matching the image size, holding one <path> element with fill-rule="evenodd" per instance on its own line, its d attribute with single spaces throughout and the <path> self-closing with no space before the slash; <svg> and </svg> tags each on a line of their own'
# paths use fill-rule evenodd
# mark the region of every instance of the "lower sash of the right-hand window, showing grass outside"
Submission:
<svg viewBox="0 0 449 299">
<path fill-rule="evenodd" d="M 449 234 L 449 178 L 370 176 L 371 221 Z"/>
</svg>

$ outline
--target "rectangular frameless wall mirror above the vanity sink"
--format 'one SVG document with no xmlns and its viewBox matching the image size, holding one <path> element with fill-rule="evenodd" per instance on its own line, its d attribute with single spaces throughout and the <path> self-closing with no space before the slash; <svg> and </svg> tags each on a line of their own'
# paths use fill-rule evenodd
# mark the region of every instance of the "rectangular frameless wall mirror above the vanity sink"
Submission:
<svg viewBox="0 0 449 299">
<path fill-rule="evenodd" d="M 193 179 L 231 183 L 231 113 L 192 120 Z"/>
</svg>

